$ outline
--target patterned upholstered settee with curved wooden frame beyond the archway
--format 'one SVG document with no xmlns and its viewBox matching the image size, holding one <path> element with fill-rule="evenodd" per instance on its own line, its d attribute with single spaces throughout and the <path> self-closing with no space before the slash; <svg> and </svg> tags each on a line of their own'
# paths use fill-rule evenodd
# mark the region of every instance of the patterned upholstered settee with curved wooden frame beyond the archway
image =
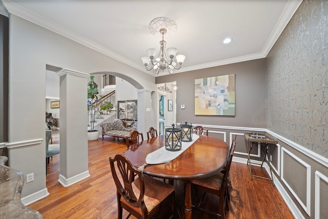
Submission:
<svg viewBox="0 0 328 219">
<path fill-rule="evenodd" d="M 100 124 L 100 127 L 103 130 L 103 134 L 102 134 L 103 140 L 104 140 L 104 135 L 125 138 L 128 147 L 129 147 L 129 139 L 131 136 L 131 132 L 137 129 L 134 126 L 130 128 L 126 127 L 124 123 L 118 118 L 115 118 L 115 120 L 112 123 L 102 123 Z"/>
</svg>

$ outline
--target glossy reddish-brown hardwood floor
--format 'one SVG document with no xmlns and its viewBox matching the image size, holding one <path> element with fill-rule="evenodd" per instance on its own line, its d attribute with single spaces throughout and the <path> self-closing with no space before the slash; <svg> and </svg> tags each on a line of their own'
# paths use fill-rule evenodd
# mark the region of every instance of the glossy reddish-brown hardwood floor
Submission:
<svg viewBox="0 0 328 219">
<path fill-rule="evenodd" d="M 53 132 L 53 144 L 59 143 L 59 131 Z M 237 142 L 238 144 L 238 142 Z M 240 143 L 243 144 L 243 143 Z M 124 140 L 105 137 L 104 141 L 88 143 L 90 177 L 69 187 L 58 182 L 59 154 L 53 156 L 48 165 L 47 197 L 30 204 L 44 216 L 50 218 L 117 218 L 116 187 L 112 179 L 109 157 L 123 153 L 127 146 Z M 253 167 L 252 167 L 253 168 Z M 264 169 L 254 167 L 252 172 L 268 176 Z M 233 162 L 230 169 L 230 211 L 226 218 L 294 218 L 288 206 L 271 181 L 253 177 L 250 180 L 249 168 L 246 164 Z M 184 190 L 181 181 L 175 181 L 176 204 L 183 217 Z M 202 192 L 192 191 L 193 204 L 202 196 Z M 203 207 L 215 211 L 218 197 L 206 194 Z M 123 210 L 124 217 L 128 213 Z M 192 211 L 193 218 L 217 218 L 197 209 Z M 175 212 L 178 218 L 178 212 Z M 165 211 L 158 215 L 165 218 Z M 130 218 L 135 218 L 131 216 Z"/>
</svg>

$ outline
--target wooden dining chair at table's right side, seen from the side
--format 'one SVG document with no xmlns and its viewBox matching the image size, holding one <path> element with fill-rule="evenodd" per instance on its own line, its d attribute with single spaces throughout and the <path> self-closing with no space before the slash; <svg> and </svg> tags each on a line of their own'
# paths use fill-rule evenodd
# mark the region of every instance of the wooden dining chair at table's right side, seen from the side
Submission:
<svg viewBox="0 0 328 219">
<path fill-rule="evenodd" d="M 235 138 L 234 138 L 235 139 Z M 219 172 L 215 175 L 206 177 L 206 178 L 200 178 L 192 181 L 191 187 L 193 189 L 202 190 L 204 191 L 204 194 L 198 203 L 198 205 L 192 205 L 192 207 L 200 209 L 202 211 L 215 214 L 219 216 L 220 218 L 226 218 L 224 210 L 229 210 L 229 203 L 228 203 L 228 176 L 230 171 L 230 166 L 232 163 L 232 157 L 233 153 L 235 151 L 236 147 L 236 141 L 234 141 L 231 145 L 229 156 L 228 156 L 228 162 L 227 165 L 224 167 L 223 172 Z M 206 209 L 203 209 L 200 207 L 201 201 L 203 200 L 206 193 L 212 193 L 214 195 L 219 196 L 219 206 L 218 206 L 218 213 L 212 212 Z"/>
</svg>

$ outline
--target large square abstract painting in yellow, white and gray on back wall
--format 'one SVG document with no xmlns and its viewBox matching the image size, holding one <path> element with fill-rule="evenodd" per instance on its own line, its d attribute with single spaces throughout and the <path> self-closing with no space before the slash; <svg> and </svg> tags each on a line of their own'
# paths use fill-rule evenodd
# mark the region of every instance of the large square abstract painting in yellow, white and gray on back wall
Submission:
<svg viewBox="0 0 328 219">
<path fill-rule="evenodd" d="M 195 79 L 195 115 L 235 116 L 235 74 Z"/>
</svg>

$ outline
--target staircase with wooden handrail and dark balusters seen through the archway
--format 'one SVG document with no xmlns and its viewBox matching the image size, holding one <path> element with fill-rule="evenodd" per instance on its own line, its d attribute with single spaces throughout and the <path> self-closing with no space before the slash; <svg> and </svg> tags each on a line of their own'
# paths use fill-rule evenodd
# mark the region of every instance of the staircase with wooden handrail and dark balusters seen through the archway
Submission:
<svg viewBox="0 0 328 219">
<path fill-rule="evenodd" d="M 111 112 L 103 111 L 102 115 L 99 113 L 99 108 L 95 110 L 97 113 L 94 121 L 95 122 L 94 129 L 98 130 L 100 134 L 101 134 L 100 124 L 106 123 L 107 121 L 112 122 L 116 118 L 117 113 L 116 113 L 115 90 L 99 98 L 93 104 L 99 107 L 100 105 L 103 105 L 105 102 L 112 103 L 114 108 L 111 110 Z M 91 129 L 90 124 L 91 124 L 91 110 L 88 109 L 88 130 Z"/>
</svg>

